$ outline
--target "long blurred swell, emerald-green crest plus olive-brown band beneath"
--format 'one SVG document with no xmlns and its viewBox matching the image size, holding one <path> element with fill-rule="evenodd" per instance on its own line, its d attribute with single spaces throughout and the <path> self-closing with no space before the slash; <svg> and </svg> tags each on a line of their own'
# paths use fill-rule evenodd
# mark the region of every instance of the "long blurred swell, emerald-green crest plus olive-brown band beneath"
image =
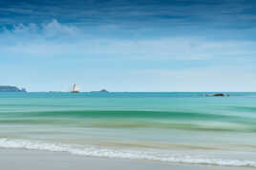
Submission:
<svg viewBox="0 0 256 170">
<path fill-rule="evenodd" d="M 255 132 L 255 119 L 243 115 L 192 111 L 65 110 L 1 114 L 6 124 L 65 124 L 96 128 L 163 128 L 195 131 Z M 243 118 L 243 119 L 242 119 Z"/>
</svg>

